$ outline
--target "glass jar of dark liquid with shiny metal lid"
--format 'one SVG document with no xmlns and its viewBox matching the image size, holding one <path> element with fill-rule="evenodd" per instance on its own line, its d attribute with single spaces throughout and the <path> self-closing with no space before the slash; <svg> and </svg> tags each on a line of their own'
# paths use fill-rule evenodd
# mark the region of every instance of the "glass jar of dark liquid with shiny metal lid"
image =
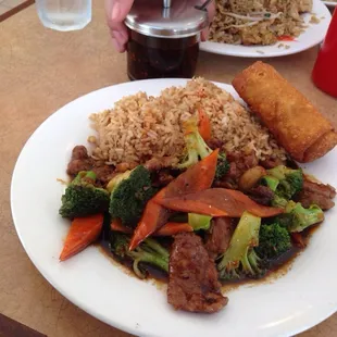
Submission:
<svg viewBox="0 0 337 337">
<path fill-rule="evenodd" d="M 126 17 L 129 32 L 127 74 L 132 80 L 146 78 L 191 78 L 195 75 L 200 32 L 208 24 L 207 12 L 190 1 L 135 1 Z"/>
</svg>

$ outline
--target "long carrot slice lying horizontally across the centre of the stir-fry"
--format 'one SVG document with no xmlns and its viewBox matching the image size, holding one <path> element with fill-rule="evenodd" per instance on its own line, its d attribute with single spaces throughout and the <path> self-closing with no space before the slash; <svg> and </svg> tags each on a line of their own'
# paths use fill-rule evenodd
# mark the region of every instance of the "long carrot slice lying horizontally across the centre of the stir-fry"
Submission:
<svg viewBox="0 0 337 337">
<path fill-rule="evenodd" d="M 157 202 L 170 210 L 214 217 L 240 217 L 245 211 L 255 216 L 269 217 L 284 212 L 283 209 L 261 205 L 238 190 L 225 188 L 211 188 L 187 196 L 164 198 Z"/>
</svg>

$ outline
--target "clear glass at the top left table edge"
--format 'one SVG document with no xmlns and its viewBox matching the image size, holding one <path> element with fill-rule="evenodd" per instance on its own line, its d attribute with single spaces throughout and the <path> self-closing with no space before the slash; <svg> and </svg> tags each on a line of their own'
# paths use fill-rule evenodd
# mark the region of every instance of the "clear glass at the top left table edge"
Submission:
<svg viewBox="0 0 337 337">
<path fill-rule="evenodd" d="M 84 28 L 91 21 L 91 0 L 36 0 L 45 27 L 68 32 Z"/>
</svg>

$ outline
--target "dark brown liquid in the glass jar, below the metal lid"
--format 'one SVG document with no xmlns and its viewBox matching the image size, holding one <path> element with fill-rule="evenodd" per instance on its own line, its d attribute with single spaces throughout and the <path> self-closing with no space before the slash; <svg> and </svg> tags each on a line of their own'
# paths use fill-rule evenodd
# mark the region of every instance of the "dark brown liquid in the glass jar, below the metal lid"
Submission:
<svg viewBox="0 0 337 337">
<path fill-rule="evenodd" d="M 157 38 L 129 32 L 127 68 L 132 80 L 146 78 L 191 78 L 195 75 L 199 41 L 186 38 Z"/>
</svg>

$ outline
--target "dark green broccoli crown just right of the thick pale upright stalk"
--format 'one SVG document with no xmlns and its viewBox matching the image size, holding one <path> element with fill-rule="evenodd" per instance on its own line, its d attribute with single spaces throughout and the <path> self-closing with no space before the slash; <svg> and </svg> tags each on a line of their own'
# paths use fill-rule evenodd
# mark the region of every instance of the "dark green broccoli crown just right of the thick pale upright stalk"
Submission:
<svg viewBox="0 0 337 337">
<path fill-rule="evenodd" d="M 278 223 L 262 225 L 259 234 L 259 257 L 275 260 L 291 248 L 291 238 L 287 228 Z"/>
</svg>

